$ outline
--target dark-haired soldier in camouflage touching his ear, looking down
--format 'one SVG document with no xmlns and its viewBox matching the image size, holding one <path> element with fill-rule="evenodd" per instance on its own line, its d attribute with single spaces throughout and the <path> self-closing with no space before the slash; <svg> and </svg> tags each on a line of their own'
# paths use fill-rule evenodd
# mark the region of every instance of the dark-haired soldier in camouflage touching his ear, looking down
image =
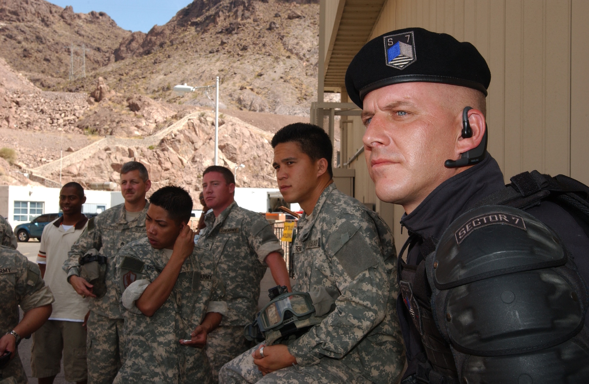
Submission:
<svg viewBox="0 0 589 384">
<path fill-rule="evenodd" d="M 126 358 L 117 384 L 212 382 L 201 347 L 227 305 L 220 301 L 211 253 L 194 249 L 194 233 L 186 225 L 191 208 L 183 188 L 156 191 L 147 237 L 116 257 L 117 290 L 127 309 Z"/>
</svg>

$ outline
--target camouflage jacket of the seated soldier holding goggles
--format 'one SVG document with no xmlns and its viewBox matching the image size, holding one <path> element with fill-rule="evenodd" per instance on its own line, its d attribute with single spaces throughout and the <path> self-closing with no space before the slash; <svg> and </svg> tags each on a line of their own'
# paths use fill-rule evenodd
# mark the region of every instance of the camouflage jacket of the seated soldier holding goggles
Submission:
<svg viewBox="0 0 589 384">
<path fill-rule="evenodd" d="M 325 357 L 374 383 L 394 383 L 405 357 L 396 318 L 396 250 L 391 230 L 355 198 L 325 188 L 310 220 L 299 220 L 293 244 L 297 283 L 293 290 L 319 287 L 340 293 L 336 308 L 289 345 L 299 365 Z"/>
</svg>

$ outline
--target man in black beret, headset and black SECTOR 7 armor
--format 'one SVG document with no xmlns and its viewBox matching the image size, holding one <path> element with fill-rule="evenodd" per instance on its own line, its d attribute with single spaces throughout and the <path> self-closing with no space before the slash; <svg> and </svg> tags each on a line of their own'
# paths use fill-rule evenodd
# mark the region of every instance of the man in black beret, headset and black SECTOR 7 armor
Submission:
<svg viewBox="0 0 589 384">
<path fill-rule="evenodd" d="M 405 209 L 402 382 L 585 382 L 589 188 L 536 171 L 504 186 L 490 81 L 472 44 L 421 28 L 372 39 L 346 73 L 376 194 Z"/>
</svg>

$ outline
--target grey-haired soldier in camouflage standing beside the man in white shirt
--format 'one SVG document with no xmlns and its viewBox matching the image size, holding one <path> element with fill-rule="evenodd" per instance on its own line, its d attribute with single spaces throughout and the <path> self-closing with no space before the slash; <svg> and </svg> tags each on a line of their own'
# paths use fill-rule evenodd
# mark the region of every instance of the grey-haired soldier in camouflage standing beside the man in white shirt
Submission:
<svg viewBox="0 0 589 384">
<path fill-rule="evenodd" d="M 123 363 L 123 309 L 114 279 L 115 256 L 125 244 L 145 237 L 145 193 L 151 187 L 144 165 L 130 161 L 121 168 L 121 193 L 125 203 L 112 207 L 88 221 L 87 229 L 74 243 L 63 269 L 68 282 L 88 304 L 88 383 L 110 384 Z M 97 297 L 92 284 L 80 277 L 80 257 L 91 249 L 107 257 L 106 293 Z"/>
</svg>

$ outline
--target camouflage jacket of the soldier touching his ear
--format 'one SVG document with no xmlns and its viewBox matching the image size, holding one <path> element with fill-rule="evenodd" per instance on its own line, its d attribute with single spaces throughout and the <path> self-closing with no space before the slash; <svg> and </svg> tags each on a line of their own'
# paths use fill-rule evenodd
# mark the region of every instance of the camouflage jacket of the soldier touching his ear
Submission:
<svg viewBox="0 0 589 384">
<path fill-rule="evenodd" d="M 169 258 L 163 250 L 151 247 L 145 237 L 123 247 L 116 260 L 116 289 L 121 297 L 137 280 L 153 282 Z M 126 358 L 114 383 L 211 382 L 203 350 L 181 345 L 179 340 L 190 339 L 209 306 L 223 300 L 222 292 L 210 252 L 195 248 L 184 261 L 170 296 L 153 316 L 125 310 Z"/>
</svg>

